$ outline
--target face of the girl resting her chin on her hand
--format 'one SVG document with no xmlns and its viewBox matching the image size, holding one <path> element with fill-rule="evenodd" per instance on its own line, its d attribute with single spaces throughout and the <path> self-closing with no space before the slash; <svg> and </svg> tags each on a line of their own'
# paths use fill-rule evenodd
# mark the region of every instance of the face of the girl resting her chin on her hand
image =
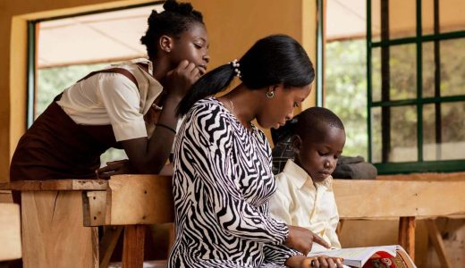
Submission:
<svg viewBox="0 0 465 268">
<path fill-rule="evenodd" d="M 208 56 L 207 29 L 202 23 L 194 22 L 190 29 L 182 32 L 179 38 L 173 38 L 170 61 L 175 68 L 183 60 L 195 63 L 200 74 L 207 72 Z"/>
</svg>

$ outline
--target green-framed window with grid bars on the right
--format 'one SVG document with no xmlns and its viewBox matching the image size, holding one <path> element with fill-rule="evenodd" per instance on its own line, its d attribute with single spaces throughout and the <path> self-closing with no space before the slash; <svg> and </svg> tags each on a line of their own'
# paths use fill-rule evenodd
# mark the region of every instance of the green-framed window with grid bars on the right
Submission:
<svg viewBox="0 0 465 268">
<path fill-rule="evenodd" d="M 379 173 L 465 170 L 460 0 L 368 0 L 368 159 Z"/>
</svg>

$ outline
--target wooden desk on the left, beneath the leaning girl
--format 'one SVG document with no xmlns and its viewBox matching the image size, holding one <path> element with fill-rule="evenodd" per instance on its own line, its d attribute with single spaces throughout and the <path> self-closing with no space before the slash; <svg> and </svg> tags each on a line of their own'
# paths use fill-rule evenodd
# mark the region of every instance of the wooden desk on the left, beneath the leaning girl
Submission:
<svg viewBox="0 0 465 268">
<path fill-rule="evenodd" d="M 15 181 L 0 189 L 21 190 L 24 267 L 99 267 L 97 226 L 123 225 L 123 267 L 132 268 L 142 267 L 143 224 L 173 222 L 171 181 L 118 175 Z"/>
</svg>

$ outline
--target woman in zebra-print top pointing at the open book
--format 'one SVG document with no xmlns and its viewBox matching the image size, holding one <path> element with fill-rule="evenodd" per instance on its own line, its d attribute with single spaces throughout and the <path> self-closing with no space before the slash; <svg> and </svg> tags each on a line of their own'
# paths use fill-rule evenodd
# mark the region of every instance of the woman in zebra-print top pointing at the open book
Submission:
<svg viewBox="0 0 465 268">
<path fill-rule="evenodd" d="M 263 128 L 279 128 L 309 96 L 314 70 L 287 36 L 258 40 L 240 61 L 208 72 L 184 96 L 175 145 L 176 239 L 169 267 L 310 267 L 309 230 L 268 216 L 275 192 L 271 148 Z M 234 76 L 241 84 L 219 98 Z M 295 248 L 295 249 L 292 249 Z M 334 264 L 328 259 L 326 264 Z M 324 266 L 322 266 L 324 267 Z"/>
</svg>

